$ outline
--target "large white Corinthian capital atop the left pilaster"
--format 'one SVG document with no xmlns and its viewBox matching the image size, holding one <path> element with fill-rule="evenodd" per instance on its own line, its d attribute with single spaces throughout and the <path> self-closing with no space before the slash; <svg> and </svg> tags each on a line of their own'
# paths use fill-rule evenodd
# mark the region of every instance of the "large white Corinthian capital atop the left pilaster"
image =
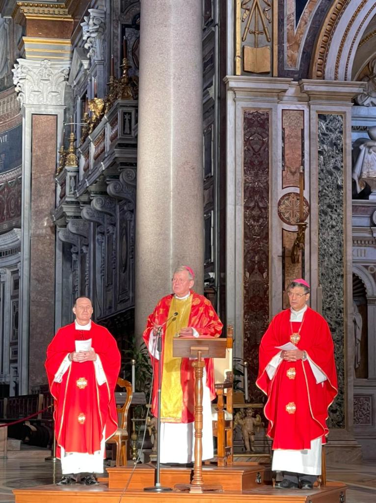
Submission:
<svg viewBox="0 0 376 503">
<path fill-rule="evenodd" d="M 64 90 L 69 74 L 65 62 L 48 59 L 18 59 L 13 68 L 13 83 L 22 105 L 64 105 Z"/>
</svg>

